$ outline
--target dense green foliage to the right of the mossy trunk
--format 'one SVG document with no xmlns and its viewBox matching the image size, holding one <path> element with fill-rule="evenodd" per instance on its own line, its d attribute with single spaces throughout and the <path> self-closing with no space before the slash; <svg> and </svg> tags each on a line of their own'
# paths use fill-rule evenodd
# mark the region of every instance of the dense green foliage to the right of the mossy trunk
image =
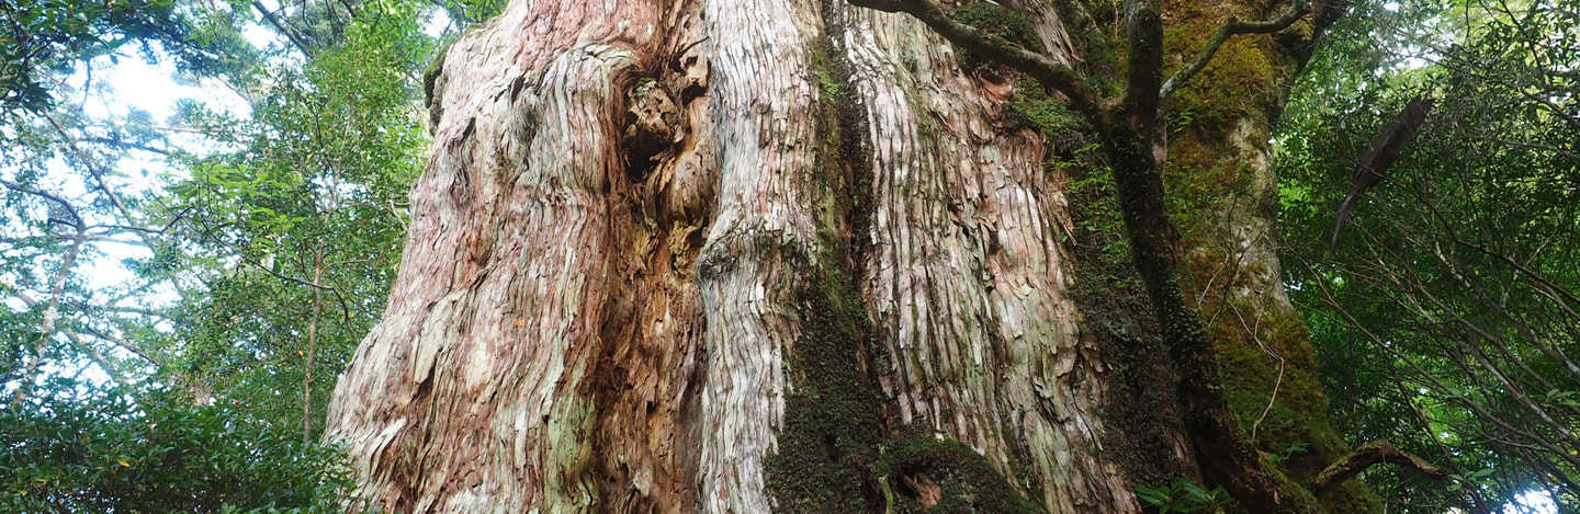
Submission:
<svg viewBox="0 0 1580 514">
<path fill-rule="evenodd" d="M 1278 134 L 1291 295 L 1335 423 L 1454 473 L 1368 476 L 1400 511 L 1574 509 L 1580 6 L 1357 8 Z M 1417 96 L 1436 104 L 1416 142 L 1326 248 L 1367 137 Z"/>
</svg>

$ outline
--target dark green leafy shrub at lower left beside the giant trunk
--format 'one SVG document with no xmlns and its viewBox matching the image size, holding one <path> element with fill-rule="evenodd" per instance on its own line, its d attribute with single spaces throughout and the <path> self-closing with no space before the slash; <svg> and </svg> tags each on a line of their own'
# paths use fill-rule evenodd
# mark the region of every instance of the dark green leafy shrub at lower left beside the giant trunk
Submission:
<svg viewBox="0 0 1580 514">
<path fill-rule="evenodd" d="M 335 448 L 243 405 L 137 396 L 144 404 L 112 391 L 0 412 L 0 511 L 343 511 L 351 479 Z"/>
</svg>

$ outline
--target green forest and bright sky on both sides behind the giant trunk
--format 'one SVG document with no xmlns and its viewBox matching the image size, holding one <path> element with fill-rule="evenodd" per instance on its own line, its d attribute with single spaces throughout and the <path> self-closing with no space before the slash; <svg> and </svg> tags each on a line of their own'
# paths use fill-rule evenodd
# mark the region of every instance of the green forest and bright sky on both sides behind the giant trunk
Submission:
<svg viewBox="0 0 1580 514">
<path fill-rule="evenodd" d="M 346 501 L 324 405 L 400 260 L 430 63 L 499 3 L 0 0 L 0 511 Z M 1332 423 L 1449 475 L 1368 470 L 1389 512 L 1580 508 L 1577 27 L 1574 2 L 1356 2 L 1277 126 L 1275 243 Z M 150 87 L 126 63 L 207 93 L 126 107 Z M 1416 98 L 1431 114 L 1335 227 Z M 1213 123 L 1193 99 L 1171 131 Z M 1281 369 L 1234 380 L 1277 396 Z M 1217 508 L 1188 478 L 1141 492 Z"/>
</svg>

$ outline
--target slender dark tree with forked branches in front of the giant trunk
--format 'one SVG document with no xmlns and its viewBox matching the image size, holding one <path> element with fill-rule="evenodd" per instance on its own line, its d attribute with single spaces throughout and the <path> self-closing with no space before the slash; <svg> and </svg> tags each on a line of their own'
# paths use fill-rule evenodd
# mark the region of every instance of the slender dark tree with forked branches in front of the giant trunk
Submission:
<svg viewBox="0 0 1580 514">
<path fill-rule="evenodd" d="M 1292 0 L 1281 16 L 1264 22 L 1240 22 L 1234 14 L 1229 14 L 1196 54 L 1198 57 L 1185 63 L 1176 71 L 1172 79 L 1164 82 L 1164 5 L 1157 0 L 1125 2 L 1123 19 L 1117 22 L 1119 28 L 1125 33 L 1127 69 L 1123 71 L 1123 90 L 1119 95 L 1108 95 L 1089 87 L 1092 79 L 1089 79 L 1087 69 L 1027 49 L 1021 43 L 995 35 L 991 27 L 972 27 L 961 19 L 953 19 L 934 0 L 850 2 L 874 9 L 910 14 L 951 43 L 967 47 L 986 60 L 1035 77 L 1043 87 L 1062 93 L 1066 106 L 1095 128 L 1100 136 L 1098 148 L 1101 148 L 1108 161 L 1106 164 L 1112 169 L 1115 197 L 1119 210 L 1123 214 L 1125 230 L 1128 232 L 1131 259 L 1141 281 L 1146 284 L 1161 336 L 1169 348 L 1171 371 L 1174 374 L 1172 383 L 1161 380 L 1160 385 L 1172 386 L 1177 391 L 1182 407 L 1180 424 L 1185 435 L 1191 440 L 1196 464 L 1201 467 L 1202 475 L 1212 484 L 1221 484 L 1228 489 L 1251 512 L 1319 512 L 1322 506 L 1310 490 L 1291 479 L 1289 473 L 1262 459 L 1256 441 L 1245 434 L 1237 413 L 1228 402 L 1228 394 L 1223 388 L 1224 374 L 1221 371 L 1224 363 L 1220 363 L 1217 356 L 1220 341 L 1215 341 L 1207 333 L 1207 323 L 1201 317 L 1201 312 L 1185 296 L 1183 281 L 1188 277 L 1187 273 L 1190 270 L 1187 266 L 1191 260 L 1183 254 L 1185 238 L 1182 238 L 1182 233 L 1174 225 L 1166 205 L 1163 172 L 1168 162 L 1169 143 L 1168 131 L 1160 128 L 1163 99 L 1168 99 L 1185 80 L 1204 71 L 1212 57 L 1223 49 L 1229 36 L 1281 32 L 1304 19 L 1310 13 L 1310 5 L 1305 0 Z M 1169 8 L 1179 11 L 1177 14 L 1187 14 L 1183 16 L 1187 19 L 1183 24 L 1176 24 L 1185 25 L 1179 28 L 1190 30 L 1191 24 L 1199 24 L 1204 17 L 1188 16 L 1191 9 L 1190 3 L 1174 3 Z M 1226 8 L 1236 6 L 1215 6 L 1218 11 Z M 1321 11 L 1326 13 L 1326 8 Z M 1218 16 L 1218 13 L 1212 16 Z M 1330 19 L 1327 20 L 1330 22 Z M 1310 38 L 1322 30 L 1322 27 L 1307 28 L 1305 35 L 1286 35 L 1286 44 L 1292 41 L 1291 46 L 1294 47 L 1307 46 L 1311 43 Z M 1248 52 L 1250 55 L 1247 57 L 1261 63 L 1264 69 L 1250 68 L 1242 71 L 1240 76 L 1229 79 L 1253 82 L 1288 80 L 1292 69 L 1299 66 L 1297 61 L 1300 57 L 1294 54 L 1300 52 L 1304 50 Z M 1239 65 L 1245 66 L 1245 63 Z M 1101 73 L 1103 69 L 1095 71 Z M 1097 79 L 1119 79 L 1114 73 L 1108 74 Z M 1112 98 L 1101 98 L 1100 95 Z M 1228 104 L 1251 101 L 1262 112 L 1278 112 L 1281 107 L 1280 95 L 1240 93 L 1239 96 L 1245 98 L 1226 98 L 1220 102 L 1201 102 L 1201 96 L 1196 96 L 1198 102 L 1190 104 L 1190 107 L 1228 110 L 1231 114 L 1226 115 L 1226 121 L 1264 121 L 1261 126 L 1267 126 L 1267 120 L 1258 120 L 1256 114 L 1232 112 L 1232 107 Z M 1221 128 L 1218 131 L 1218 134 L 1202 134 L 1204 131 L 1196 129 L 1191 131 L 1194 137 L 1190 139 L 1199 143 L 1194 139 L 1210 140 L 1223 137 Z M 1209 241 L 1199 246 L 1210 248 L 1215 243 Z M 1266 268 L 1277 273 L 1277 260 L 1269 262 Z M 1258 293 L 1264 292 L 1270 293 L 1270 296 L 1281 295 L 1277 282 Z M 1248 341 L 1245 339 L 1256 339 L 1255 333 L 1243 336 L 1248 337 L 1242 337 L 1242 334 L 1234 334 L 1231 336 L 1232 339 L 1224 337 L 1221 345 L 1234 350 L 1236 347 L 1247 345 Z M 1307 352 L 1310 348 L 1304 339 L 1297 341 L 1294 347 Z M 1305 367 L 1308 369 L 1310 366 Z M 1327 440 L 1334 437 L 1322 419 L 1321 394 L 1315 393 L 1308 394 L 1308 397 L 1316 397 L 1316 402 L 1308 402 L 1302 408 L 1311 421 L 1311 427 L 1307 430 L 1310 435 L 1316 435 L 1321 440 L 1321 446 L 1324 446 L 1318 454 L 1326 454 Z"/>
</svg>

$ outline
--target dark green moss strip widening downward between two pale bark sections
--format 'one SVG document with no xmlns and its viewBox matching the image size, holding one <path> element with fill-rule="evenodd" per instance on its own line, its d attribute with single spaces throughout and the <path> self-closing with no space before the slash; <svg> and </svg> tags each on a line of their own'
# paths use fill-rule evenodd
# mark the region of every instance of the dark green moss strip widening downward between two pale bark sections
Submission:
<svg viewBox="0 0 1580 514">
<path fill-rule="evenodd" d="M 818 88 L 817 129 L 822 134 L 812 186 L 825 199 L 818 238 L 825 249 L 817 265 L 782 249 L 796 277 L 796 318 L 801 336 L 787 348 L 785 421 L 779 451 L 765 462 L 768 494 L 782 512 L 882 512 L 885 497 L 872 471 L 888 434 L 886 402 L 872 366 L 880 358 L 861 295 L 860 254 L 869 246 L 871 178 L 853 170 L 866 162 L 864 110 L 853 102 L 837 24 L 825 24 L 828 38 L 811 49 Z M 861 230 L 855 230 L 855 229 Z"/>
</svg>

